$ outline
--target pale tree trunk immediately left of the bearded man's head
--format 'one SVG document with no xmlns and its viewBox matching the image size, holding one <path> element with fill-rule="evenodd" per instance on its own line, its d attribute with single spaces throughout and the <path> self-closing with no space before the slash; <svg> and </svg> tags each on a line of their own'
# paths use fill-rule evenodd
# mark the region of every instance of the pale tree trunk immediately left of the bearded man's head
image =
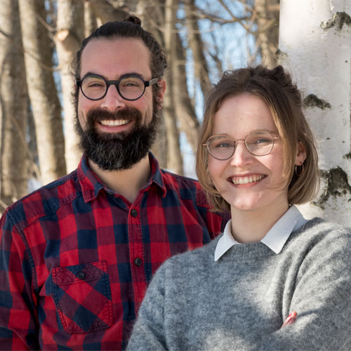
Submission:
<svg viewBox="0 0 351 351">
<path fill-rule="evenodd" d="M 60 64 L 63 111 L 65 114 L 65 160 L 67 172 L 77 168 L 81 159 L 79 139 L 74 131 L 71 64 L 84 39 L 84 4 L 77 0 L 58 0 L 56 51 Z"/>
</svg>

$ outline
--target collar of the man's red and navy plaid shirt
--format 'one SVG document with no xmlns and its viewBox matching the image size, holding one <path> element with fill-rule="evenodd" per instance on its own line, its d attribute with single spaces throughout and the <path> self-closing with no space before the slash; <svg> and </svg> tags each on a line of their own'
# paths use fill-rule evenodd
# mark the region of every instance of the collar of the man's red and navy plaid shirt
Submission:
<svg viewBox="0 0 351 351">
<path fill-rule="evenodd" d="M 152 183 L 154 183 L 161 188 L 162 197 L 165 197 L 166 186 L 164 185 L 163 175 L 162 175 L 161 169 L 159 168 L 159 162 L 151 152 L 149 152 L 149 160 L 151 165 L 150 178 L 147 181 L 147 184 L 145 185 L 145 187 L 143 187 L 143 189 L 146 189 Z M 102 183 L 100 178 L 93 172 L 93 170 L 89 166 L 88 157 L 86 156 L 86 154 L 83 154 L 83 157 L 81 157 L 81 161 L 77 168 L 77 174 L 78 174 L 79 183 L 81 184 L 81 189 L 83 192 L 83 197 L 85 202 L 91 201 L 96 197 L 98 197 L 98 194 L 102 189 L 104 189 L 106 192 L 109 192 L 111 194 L 118 195 L 116 192 L 113 192 L 112 190 L 108 189 Z"/>
</svg>

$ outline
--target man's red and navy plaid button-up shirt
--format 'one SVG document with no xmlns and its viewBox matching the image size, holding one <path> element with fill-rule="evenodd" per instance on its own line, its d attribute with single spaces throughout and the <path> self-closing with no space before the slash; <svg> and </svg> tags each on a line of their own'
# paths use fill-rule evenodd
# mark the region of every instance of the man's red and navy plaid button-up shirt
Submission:
<svg viewBox="0 0 351 351">
<path fill-rule="evenodd" d="M 82 158 L 0 221 L 0 349 L 126 347 L 152 274 L 223 230 L 199 183 L 159 169 L 133 204 Z M 227 216 L 225 216 L 227 217 Z"/>
</svg>

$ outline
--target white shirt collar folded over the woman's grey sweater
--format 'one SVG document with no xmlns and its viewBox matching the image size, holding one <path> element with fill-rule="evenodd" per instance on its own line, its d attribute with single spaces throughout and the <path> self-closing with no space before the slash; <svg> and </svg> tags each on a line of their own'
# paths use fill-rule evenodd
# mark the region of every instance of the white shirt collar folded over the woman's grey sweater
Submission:
<svg viewBox="0 0 351 351">
<path fill-rule="evenodd" d="M 291 206 L 284 215 L 277 220 L 265 237 L 261 240 L 263 244 L 268 246 L 274 253 L 282 251 L 286 240 L 290 234 L 302 227 L 307 220 L 298 211 L 296 206 Z M 218 240 L 215 261 L 222 257 L 232 246 L 240 244 L 232 237 L 232 220 L 229 220 L 225 225 L 223 236 Z"/>
</svg>

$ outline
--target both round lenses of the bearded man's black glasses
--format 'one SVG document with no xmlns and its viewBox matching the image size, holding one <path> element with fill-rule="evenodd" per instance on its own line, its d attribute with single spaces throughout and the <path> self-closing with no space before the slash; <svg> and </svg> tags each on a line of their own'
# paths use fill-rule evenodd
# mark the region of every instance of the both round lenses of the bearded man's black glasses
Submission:
<svg viewBox="0 0 351 351">
<path fill-rule="evenodd" d="M 107 92 L 107 82 L 102 77 L 86 76 L 81 81 L 81 91 L 88 99 L 99 100 Z M 119 95 L 126 100 L 136 100 L 143 95 L 145 83 L 139 77 L 124 77 L 119 83 L 117 90 Z"/>
</svg>

